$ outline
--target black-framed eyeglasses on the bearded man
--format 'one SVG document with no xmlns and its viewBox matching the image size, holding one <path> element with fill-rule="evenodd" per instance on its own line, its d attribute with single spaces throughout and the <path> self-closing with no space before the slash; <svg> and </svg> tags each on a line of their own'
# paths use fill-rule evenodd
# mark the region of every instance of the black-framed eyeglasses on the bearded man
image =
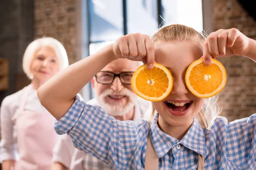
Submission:
<svg viewBox="0 0 256 170">
<path fill-rule="evenodd" d="M 131 78 L 133 74 L 134 72 L 132 71 L 122 72 L 120 74 L 114 74 L 110 71 L 100 71 L 95 77 L 96 81 L 103 85 L 112 84 L 116 77 L 119 77 L 122 84 L 131 85 Z"/>
</svg>

